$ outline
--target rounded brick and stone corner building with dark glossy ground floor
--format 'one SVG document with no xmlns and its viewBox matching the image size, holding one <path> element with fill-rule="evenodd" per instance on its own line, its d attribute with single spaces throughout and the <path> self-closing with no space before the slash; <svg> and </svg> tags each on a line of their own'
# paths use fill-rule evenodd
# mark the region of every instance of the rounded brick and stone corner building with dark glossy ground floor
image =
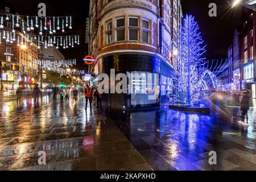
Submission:
<svg viewBox="0 0 256 182">
<path fill-rule="evenodd" d="M 117 108 L 158 106 L 171 99 L 173 74 L 178 71 L 182 11 L 179 0 L 91 0 L 90 72 L 115 69 L 115 74 L 152 73 L 159 77 L 159 97 L 148 100 L 144 80 L 133 78 L 135 93 L 104 94 L 103 105 Z M 117 81 L 118 82 L 118 81 Z M 129 81 L 127 81 L 129 84 Z M 154 88 L 153 88 L 154 90 Z"/>
</svg>

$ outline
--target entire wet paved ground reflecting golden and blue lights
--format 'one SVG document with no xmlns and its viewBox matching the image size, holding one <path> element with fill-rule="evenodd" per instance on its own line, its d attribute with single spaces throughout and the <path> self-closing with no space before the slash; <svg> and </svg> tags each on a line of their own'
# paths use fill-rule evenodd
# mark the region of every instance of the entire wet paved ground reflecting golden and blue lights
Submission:
<svg viewBox="0 0 256 182">
<path fill-rule="evenodd" d="M 0 170 L 256 170 L 250 126 L 167 107 L 127 112 L 79 101 L 0 100 Z M 46 165 L 39 165 L 39 151 Z M 208 163 L 217 152 L 217 165 Z"/>
</svg>

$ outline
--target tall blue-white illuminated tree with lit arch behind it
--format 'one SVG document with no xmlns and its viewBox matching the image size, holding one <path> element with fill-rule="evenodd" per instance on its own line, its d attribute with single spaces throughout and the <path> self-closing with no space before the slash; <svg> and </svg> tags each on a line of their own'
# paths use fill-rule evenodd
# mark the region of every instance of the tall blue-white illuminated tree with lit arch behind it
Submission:
<svg viewBox="0 0 256 182">
<path fill-rule="evenodd" d="M 196 105 L 210 88 L 219 88 L 217 75 L 225 69 L 218 60 L 206 60 L 206 45 L 193 15 L 185 15 L 180 35 L 179 70 L 176 72 L 174 102 Z"/>
</svg>

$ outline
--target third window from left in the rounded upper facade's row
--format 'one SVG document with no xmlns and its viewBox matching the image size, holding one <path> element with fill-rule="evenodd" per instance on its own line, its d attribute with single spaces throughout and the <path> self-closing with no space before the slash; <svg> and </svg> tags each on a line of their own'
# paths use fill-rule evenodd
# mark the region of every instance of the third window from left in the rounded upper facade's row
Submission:
<svg viewBox="0 0 256 182">
<path fill-rule="evenodd" d="M 129 17 L 129 40 L 139 40 L 139 19 Z"/>
</svg>

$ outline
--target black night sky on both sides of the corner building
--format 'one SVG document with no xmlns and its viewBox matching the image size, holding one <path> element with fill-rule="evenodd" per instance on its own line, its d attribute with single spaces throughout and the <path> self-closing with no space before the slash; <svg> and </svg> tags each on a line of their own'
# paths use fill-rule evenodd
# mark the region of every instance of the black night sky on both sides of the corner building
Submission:
<svg viewBox="0 0 256 182">
<path fill-rule="evenodd" d="M 1 0 L 5 1 L 11 10 L 17 11 L 20 15 L 37 15 L 38 4 L 46 3 L 47 16 L 72 15 L 73 29 L 66 31 L 64 35 L 80 35 L 81 44 L 79 47 L 60 49 L 65 59 L 77 59 L 79 65 L 83 65 L 82 58 L 87 51 L 85 45 L 85 24 L 89 11 L 89 0 Z M 208 15 L 209 3 L 217 4 L 217 17 L 211 18 Z M 193 14 L 199 22 L 205 44 L 207 44 L 207 59 L 220 59 L 227 56 L 227 49 L 232 42 L 234 28 L 240 20 L 240 10 L 229 10 L 226 0 L 181 0 L 183 14 Z M 58 35 L 62 35 L 58 34 Z"/>
</svg>

